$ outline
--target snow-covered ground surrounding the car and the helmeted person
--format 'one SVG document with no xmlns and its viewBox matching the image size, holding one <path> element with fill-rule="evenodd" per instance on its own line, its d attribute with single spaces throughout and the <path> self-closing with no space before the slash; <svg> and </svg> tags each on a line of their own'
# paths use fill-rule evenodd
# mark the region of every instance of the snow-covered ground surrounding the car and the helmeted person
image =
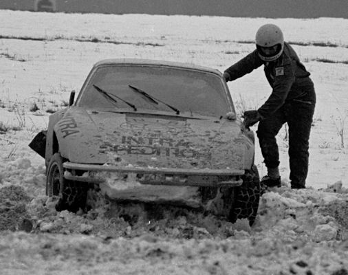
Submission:
<svg viewBox="0 0 348 275">
<path fill-rule="evenodd" d="M 96 61 L 152 58 L 224 71 L 254 49 L 254 33 L 268 22 L 283 29 L 316 86 L 307 189 L 288 186 L 283 128 L 284 186 L 261 197 L 252 228 L 171 210 L 151 219 L 138 209 L 139 219 L 126 221 L 98 197 L 87 214 L 54 210 L 44 160 L 28 143 Z M 348 274 L 347 33 L 347 19 L 0 10 L 0 273 Z M 262 69 L 228 85 L 239 110 L 270 94 Z M 258 146 L 256 163 L 264 175 Z"/>
</svg>

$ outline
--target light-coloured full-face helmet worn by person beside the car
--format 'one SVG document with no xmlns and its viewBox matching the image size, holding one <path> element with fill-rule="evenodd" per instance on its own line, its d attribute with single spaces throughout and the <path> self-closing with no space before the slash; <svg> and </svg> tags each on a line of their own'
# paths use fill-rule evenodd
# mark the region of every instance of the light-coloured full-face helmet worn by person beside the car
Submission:
<svg viewBox="0 0 348 275">
<path fill-rule="evenodd" d="M 283 32 L 281 29 L 274 24 L 265 24 L 262 25 L 259 30 L 257 30 L 256 39 L 255 39 L 257 50 L 260 58 L 263 61 L 270 62 L 275 61 L 281 54 L 283 54 L 284 50 L 284 38 Z M 276 49 L 276 53 L 272 54 L 272 56 L 268 56 L 261 52 L 260 47 L 273 47 L 278 46 Z"/>
</svg>

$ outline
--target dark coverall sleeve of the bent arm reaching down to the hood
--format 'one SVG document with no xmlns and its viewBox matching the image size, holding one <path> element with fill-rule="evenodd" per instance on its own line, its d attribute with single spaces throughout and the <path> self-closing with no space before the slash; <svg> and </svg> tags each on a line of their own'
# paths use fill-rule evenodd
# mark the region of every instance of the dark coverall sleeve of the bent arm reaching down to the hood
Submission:
<svg viewBox="0 0 348 275">
<path fill-rule="evenodd" d="M 278 110 L 287 98 L 295 76 L 292 63 L 287 63 L 281 67 L 274 68 L 274 84 L 272 94 L 266 102 L 257 110 L 261 119 L 269 118 L 272 113 Z"/>
</svg>

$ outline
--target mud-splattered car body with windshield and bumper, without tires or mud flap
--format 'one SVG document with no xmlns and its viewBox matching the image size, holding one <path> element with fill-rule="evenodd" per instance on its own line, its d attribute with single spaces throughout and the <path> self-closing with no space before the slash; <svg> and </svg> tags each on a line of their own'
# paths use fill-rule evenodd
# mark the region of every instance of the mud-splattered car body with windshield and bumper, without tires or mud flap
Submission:
<svg viewBox="0 0 348 275">
<path fill-rule="evenodd" d="M 131 173 L 139 184 L 237 187 L 254 140 L 218 70 L 117 59 L 96 63 L 76 101 L 50 115 L 47 177 L 55 154 L 65 181 L 112 185 Z"/>
</svg>

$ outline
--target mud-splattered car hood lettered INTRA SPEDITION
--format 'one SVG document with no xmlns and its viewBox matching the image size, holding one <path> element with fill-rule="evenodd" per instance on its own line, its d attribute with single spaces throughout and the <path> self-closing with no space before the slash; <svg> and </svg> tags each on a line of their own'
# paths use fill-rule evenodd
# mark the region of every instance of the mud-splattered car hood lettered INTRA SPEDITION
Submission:
<svg viewBox="0 0 348 275">
<path fill-rule="evenodd" d="M 61 155 L 81 164 L 250 168 L 254 148 L 237 121 L 69 109 L 54 126 Z"/>
</svg>

